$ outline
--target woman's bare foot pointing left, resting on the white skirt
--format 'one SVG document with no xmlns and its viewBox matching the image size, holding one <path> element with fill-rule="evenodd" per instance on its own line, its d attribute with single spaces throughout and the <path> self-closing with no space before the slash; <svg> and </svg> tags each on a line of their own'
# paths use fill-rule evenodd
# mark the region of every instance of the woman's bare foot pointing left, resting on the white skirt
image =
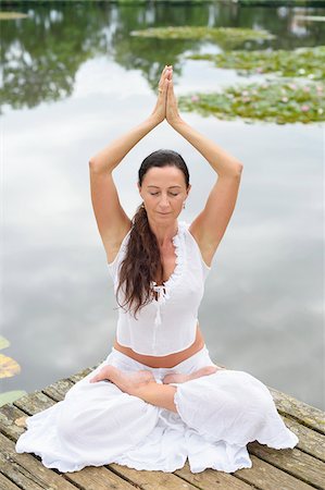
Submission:
<svg viewBox="0 0 325 490">
<path fill-rule="evenodd" d="M 90 382 L 104 379 L 112 381 L 120 390 L 128 394 L 134 394 L 136 390 L 143 384 L 155 382 L 154 376 L 149 370 L 138 370 L 126 373 L 111 365 L 104 366 Z"/>
</svg>

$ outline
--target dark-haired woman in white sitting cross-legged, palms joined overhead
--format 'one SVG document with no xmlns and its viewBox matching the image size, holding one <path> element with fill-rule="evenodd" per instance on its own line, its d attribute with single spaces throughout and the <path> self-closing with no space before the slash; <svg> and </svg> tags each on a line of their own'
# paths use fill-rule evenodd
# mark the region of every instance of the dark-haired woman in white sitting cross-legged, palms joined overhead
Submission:
<svg viewBox="0 0 325 490">
<path fill-rule="evenodd" d="M 149 155 L 139 169 L 142 198 L 130 220 L 112 171 L 162 121 L 183 135 L 217 174 L 190 225 L 178 217 L 190 192 L 182 156 Z M 268 389 L 245 371 L 216 366 L 198 323 L 212 258 L 233 213 L 242 164 L 179 115 L 173 69 L 165 66 L 151 115 L 90 160 L 91 199 L 120 305 L 112 352 L 62 402 L 27 418 L 17 452 L 75 471 L 118 463 L 192 473 L 250 468 L 247 443 L 293 448 Z"/>
</svg>

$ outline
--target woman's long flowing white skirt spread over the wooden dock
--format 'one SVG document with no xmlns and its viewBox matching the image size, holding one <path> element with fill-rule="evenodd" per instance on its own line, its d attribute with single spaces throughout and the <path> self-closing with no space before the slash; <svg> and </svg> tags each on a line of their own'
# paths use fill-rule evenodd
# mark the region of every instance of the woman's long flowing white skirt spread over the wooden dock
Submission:
<svg viewBox="0 0 325 490">
<path fill-rule="evenodd" d="M 114 383 L 89 380 L 107 364 L 123 371 L 149 369 L 162 382 L 171 372 L 190 373 L 215 366 L 207 346 L 173 368 L 150 368 L 112 347 L 92 372 L 61 402 L 26 419 L 17 453 L 35 453 L 62 473 L 117 463 L 136 469 L 175 471 L 188 457 L 192 473 L 250 468 L 246 445 L 293 448 L 298 437 L 284 424 L 261 381 L 245 371 L 221 369 L 177 388 L 175 412 L 121 391 Z"/>
</svg>

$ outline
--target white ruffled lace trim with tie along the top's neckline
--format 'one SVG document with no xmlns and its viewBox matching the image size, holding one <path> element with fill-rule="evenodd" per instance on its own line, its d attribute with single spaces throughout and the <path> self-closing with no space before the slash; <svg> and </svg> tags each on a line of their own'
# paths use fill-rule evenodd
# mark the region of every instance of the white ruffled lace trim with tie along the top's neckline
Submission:
<svg viewBox="0 0 325 490">
<path fill-rule="evenodd" d="M 170 279 L 161 285 L 158 285 L 155 281 L 151 281 L 152 290 L 158 293 L 158 299 L 154 299 L 157 305 L 157 315 L 154 319 L 154 326 L 159 326 L 162 323 L 161 321 L 161 306 L 165 304 L 166 299 L 171 297 L 171 291 L 178 283 L 179 279 L 183 275 L 184 267 L 186 262 L 186 246 L 185 246 L 185 221 L 178 222 L 178 230 L 176 235 L 173 236 L 172 242 L 175 247 L 175 269 L 172 272 Z"/>
</svg>

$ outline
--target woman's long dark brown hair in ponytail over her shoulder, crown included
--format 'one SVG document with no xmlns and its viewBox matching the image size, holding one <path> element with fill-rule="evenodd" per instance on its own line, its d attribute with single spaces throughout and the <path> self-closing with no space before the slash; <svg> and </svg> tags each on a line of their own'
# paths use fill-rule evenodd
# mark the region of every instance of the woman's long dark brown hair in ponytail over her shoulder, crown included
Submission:
<svg viewBox="0 0 325 490">
<path fill-rule="evenodd" d="M 186 187 L 189 185 L 189 172 L 183 157 L 170 149 L 159 149 L 148 155 L 142 161 L 138 182 L 142 180 L 152 167 L 176 167 L 184 173 Z M 163 278 L 163 266 L 160 248 L 152 232 L 143 203 L 138 206 L 132 220 L 129 240 L 125 258 L 121 264 L 120 281 L 116 290 L 117 303 L 124 309 L 134 309 L 134 316 L 140 308 L 152 301 L 151 281 Z M 123 287 L 122 287 L 123 286 Z M 118 291 L 123 289 L 124 303 L 118 302 Z"/>
</svg>

